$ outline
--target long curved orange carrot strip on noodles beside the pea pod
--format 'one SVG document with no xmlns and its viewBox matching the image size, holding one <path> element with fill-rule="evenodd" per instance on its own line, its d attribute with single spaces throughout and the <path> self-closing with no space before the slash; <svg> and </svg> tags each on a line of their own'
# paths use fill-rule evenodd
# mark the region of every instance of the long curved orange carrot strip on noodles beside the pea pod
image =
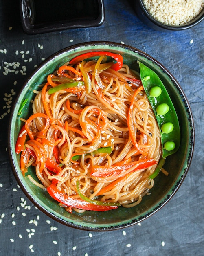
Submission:
<svg viewBox="0 0 204 256">
<path fill-rule="evenodd" d="M 133 126 L 133 117 L 132 117 L 132 109 L 133 109 L 133 105 L 134 105 L 134 99 L 136 97 L 136 95 L 141 91 L 143 90 L 143 86 L 140 86 L 133 94 L 133 97 L 132 97 L 132 100 L 130 102 L 130 106 L 129 106 L 129 110 L 128 110 L 128 113 L 127 113 L 127 126 L 128 126 L 128 129 L 129 129 L 129 135 L 131 137 L 131 140 L 132 140 L 132 144 L 134 145 L 134 147 L 140 152 L 140 154 L 143 153 L 143 150 L 141 150 L 137 144 L 137 141 L 136 141 L 136 136 L 134 134 L 134 126 Z"/>
</svg>

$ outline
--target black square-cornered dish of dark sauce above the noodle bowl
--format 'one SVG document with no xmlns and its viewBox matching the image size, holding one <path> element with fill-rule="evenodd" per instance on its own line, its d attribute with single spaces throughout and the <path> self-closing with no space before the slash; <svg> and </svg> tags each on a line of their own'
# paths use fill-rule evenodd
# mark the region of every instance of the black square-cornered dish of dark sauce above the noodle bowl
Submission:
<svg viewBox="0 0 204 256">
<path fill-rule="evenodd" d="M 41 34 L 104 22 L 103 0 L 20 0 L 22 27 L 26 34 Z"/>
</svg>

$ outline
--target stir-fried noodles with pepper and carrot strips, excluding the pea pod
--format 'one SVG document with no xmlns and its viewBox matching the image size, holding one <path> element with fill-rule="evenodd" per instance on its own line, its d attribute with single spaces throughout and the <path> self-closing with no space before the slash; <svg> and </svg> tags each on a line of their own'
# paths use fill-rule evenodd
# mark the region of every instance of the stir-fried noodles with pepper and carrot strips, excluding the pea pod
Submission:
<svg viewBox="0 0 204 256">
<path fill-rule="evenodd" d="M 48 75 L 33 91 L 32 115 L 21 119 L 16 153 L 23 175 L 69 212 L 139 204 L 162 155 L 138 73 L 109 54 L 82 54 Z"/>
</svg>

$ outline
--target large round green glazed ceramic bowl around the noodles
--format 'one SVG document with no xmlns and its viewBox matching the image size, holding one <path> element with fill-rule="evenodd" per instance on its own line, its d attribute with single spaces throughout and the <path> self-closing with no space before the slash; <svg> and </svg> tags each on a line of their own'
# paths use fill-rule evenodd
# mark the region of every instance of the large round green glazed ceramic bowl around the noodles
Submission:
<svg viewBox="0 0 204 256">
<path fill-rule="evenodd" d="M 155 185 L 151 189 L 151 195 L 145 196 L 142 202 L 130 209 L 119 207 L 109 212 L 85 211 L 84 213 L 67 213 L 59 207 L 48 193 L 33 185 L 28 178 L 23 177 L 20 171 L 19 156 L 15 154 L 15 142 L 22 126 L 20 117 L 27 119 L 31 115 L 30 100 L 34 98 L 33 90 L 38 89 L 38 85 L 45 82 L 48 74 L 58 69 L 60 65 L 66 63 L 73 57 L 89 51 L 110 51 L 121 54 L 124 63 L 132 69 L 138 70 L 137 61 L 140 60 L 145 65 L 154 70 L 165 84 L 169 95 L 173 101 L 178 114 L 181 129 L 181 144 L 177 153 L 167 157 L 165 169 L 169 172 L 168 176 L 162 173 L 156 177 Z M 18 116 L 20 103 L 24 99 L 29 99 L 23 112 Z M 83 230 L 105 231 L 119 229 L 134 225 L 145 220 L 153 213 L 165 205 L 180 187 L 191 163 L 194 146 L 194 127 L 189 103 L 186 100 L 178 82 L 171 73 L 158 61 L 140 50 L 112 42 L 89 42 L 73 45 L 63 49 L 47 58 L 41 63 L 28 78 L 11 112 L 9 125 L 9 155 L 11 166 L 16 180 L 26 196 L 46 215 L 58 222 L 70 227 Z M 29 168 L 29 173 L 37 179 L 35 172 Z"/>
</svg>

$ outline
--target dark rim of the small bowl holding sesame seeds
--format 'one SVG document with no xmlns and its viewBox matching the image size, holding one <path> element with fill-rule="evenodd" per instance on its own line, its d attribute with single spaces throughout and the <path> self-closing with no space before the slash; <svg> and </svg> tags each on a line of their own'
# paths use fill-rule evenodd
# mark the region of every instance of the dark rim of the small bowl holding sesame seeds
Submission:
<svg viewBox="0 0 204 256">
<path fill-rule="evenodd" d="M 185 24 L 182 25 L 168 25 L 165 23 L 162 23 L 158 21 L 154 16 L 152 16 L 149 11 L 147 10 L 147 7 L 145 6 L 143 0 L 138 0 L 138 4 L 140 8 L 143 10 L 144 15 L 154 23 L 154 25 L 157 25 L 158 27 L 161 27 L 163 29 L 168 29 L 168 30 L 184 30 L 184 29 L 189 29 L 198 23 L 200 23 L 202 20 L 204 20 L 204 8 L 202 11 L 191 21 L 186 22 Z"/>
</svg>

